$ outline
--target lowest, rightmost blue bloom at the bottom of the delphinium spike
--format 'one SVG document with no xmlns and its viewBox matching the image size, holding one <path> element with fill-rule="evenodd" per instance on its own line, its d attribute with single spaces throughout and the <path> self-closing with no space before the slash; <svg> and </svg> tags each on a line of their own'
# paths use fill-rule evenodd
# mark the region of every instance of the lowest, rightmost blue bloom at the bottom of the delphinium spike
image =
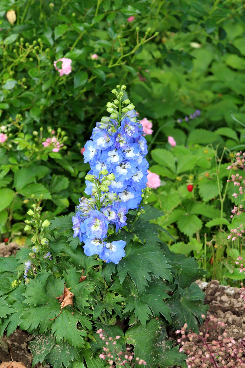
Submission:
<svg viewBox="0 0 245 368">
<path fill-rule="evenodd" d="M 104 259 L 106 263 L 113 262 L 117 265 L 125 256 L 124 247 L 126 242 L 123 240 L 115 240 L 111 243 L 104 242 L 103 250 L 100 254 L 100 259 Z"/>
</svg>

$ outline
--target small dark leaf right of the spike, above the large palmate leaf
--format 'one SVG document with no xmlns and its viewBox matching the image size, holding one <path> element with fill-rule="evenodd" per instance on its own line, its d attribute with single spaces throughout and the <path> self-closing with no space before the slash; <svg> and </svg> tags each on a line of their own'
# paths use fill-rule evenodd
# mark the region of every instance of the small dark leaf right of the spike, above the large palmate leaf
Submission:
<svg viewBox="0 0 245 368">
<path fill-rule="evenodd" d="M 145 241 L 149 245 L 154 245 L 159 241 L 159 232 L 156 225 L 148 221 L 137 220 L 134 227 L 130 228 L 129 231 L 138 236 L 142 243 Z"/>
</svg>

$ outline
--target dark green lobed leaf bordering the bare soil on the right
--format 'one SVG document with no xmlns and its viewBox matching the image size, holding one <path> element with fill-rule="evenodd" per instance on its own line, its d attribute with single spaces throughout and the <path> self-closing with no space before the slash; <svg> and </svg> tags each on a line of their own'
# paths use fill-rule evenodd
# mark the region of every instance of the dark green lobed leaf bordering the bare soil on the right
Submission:
<svg viewBox="0 0 245 368">
<path fill-rule="evenodd" d="M 172 311 L 173 330 L 187 323 L 188 329 L 198 333 L 198 321 L 203 323 L 202 314 L 207 314 L 208 305 L 202 304 L 200 288 L 197 284 L 192 283 L 189 288 L 184 289 L 182 297 L 178 290 L 175 291 L 174 295 L 168 300 L 167 305 Z"/>
</svg>

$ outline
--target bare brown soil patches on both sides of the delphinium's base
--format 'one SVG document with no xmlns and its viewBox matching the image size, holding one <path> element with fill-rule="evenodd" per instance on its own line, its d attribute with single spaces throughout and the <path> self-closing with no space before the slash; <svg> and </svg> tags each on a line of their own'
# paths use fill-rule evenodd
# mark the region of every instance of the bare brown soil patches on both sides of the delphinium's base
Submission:
<svg viewBox="0 0 245 368">
<path fill-rule="evenodd" d="M 0 256 L 10 256 L 18 249 L 16 243 L 0 243 Z M 217 340 L 226 330 L 228 337 L 235 340 L 245 338 L 245 308 L 244 302 L 240 298 L 237 287 L 220 286 L 219 282 L 212 280 L 210 283 L 197 282 L 205 292 L 205 304 L 209 305 L 209 315 L 214 315 L 219 321 L 226 323 L 227 326 L 219 327 L 210 331 L 210 341 Z M 202 326 L 200 326 L 202 330 Z M 17 329 L 12 335 L 4 335 L 0 339 L 0 363 L 4 361 L 19 361 L 31 368 L 32 355 L 28 349 L 28 342 L 33 339 L 32 335 Z M 43 367 L 43 365 L 35 365 Z M 46 365 L 45 368 L 50 367 Z M 176 367 L 176 366 L 175 366 Z M 176 367 L 177 368 L 177 367 Z M 196 367 L 198 368 L 198 367 Z"/>
</svg>

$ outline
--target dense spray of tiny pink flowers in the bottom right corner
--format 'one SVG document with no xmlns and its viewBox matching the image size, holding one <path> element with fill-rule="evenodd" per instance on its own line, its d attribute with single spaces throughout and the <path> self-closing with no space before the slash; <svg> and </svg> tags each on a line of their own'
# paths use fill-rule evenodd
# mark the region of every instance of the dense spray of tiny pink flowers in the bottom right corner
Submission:
<svg viewBox="0 0 245 368">
<path fill-rule="evenodd" d="M 202 315 L 202 317 L 205 317 Z M 224 332 L 218 336 L 218 340 L 209 341 L 210 329 L 216 329 L 218 326 L 224 327 L 225 323 L 218 321 L 214 316 L 207 317 L 204 324 L 205 333 L 199 335 L 187 330 L 187 324 L 177 330 L 181 337 L 177 340 L 181 343 L 180 351 L 184 351 L 188 358 L 186 359 L 188 368 L 245 368 L 244 346 L 232 338 L 228 338 Z M 187 334 L 186 334 L 187 333 Z M 211 365 L 210 365 L 211 363 Z"/>
</svg>

